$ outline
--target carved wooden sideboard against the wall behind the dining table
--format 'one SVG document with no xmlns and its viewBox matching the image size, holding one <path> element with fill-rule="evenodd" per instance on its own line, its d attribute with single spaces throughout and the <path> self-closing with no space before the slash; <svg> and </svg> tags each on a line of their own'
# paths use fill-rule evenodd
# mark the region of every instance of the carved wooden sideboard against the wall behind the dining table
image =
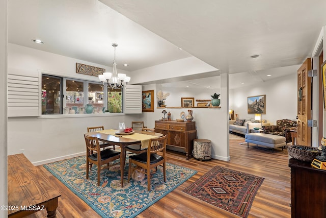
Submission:
<svg viewBox="0 0 326 218">
<path fill-rule="evenodd" d="M 185 153 L 186 159 L 193 157 L 196 122 L 155 120 L 155 132 L 168 135 L 167 149 Z"/>
</svg>

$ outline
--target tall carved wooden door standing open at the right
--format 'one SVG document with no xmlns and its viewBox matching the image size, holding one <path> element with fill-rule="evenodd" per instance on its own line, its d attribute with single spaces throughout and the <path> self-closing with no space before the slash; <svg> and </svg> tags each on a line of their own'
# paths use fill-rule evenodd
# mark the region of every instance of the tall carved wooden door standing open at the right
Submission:
<svg viewBox="0 0 326 218">
<path fill-rule="evenodd" d="M 312 117 L 310 69 L 311 59 L 308 58 L 297 70 L 297 144 L 302 146 L 311 146 L 311 127 L 308 127 L 308 119 Z"/>
</svg>

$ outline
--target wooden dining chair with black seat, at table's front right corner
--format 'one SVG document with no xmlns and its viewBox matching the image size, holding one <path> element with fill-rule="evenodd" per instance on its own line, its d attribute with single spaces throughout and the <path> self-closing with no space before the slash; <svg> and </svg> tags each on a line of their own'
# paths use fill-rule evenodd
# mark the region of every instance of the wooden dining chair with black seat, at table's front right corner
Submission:
<svg viewBox="0 0 326 218">
<path fill-rule="evenodd" d="M 151 169 L 157 166 L 163 167 L 164 181 L 166 181 L 166 146 L 167 146 L 168 135 L 161 136 L 158 138 L 151 138 L 148 144 L 147 152 L 129 156 L 129 169 L 128 169 L 128 182 L 130 181 L 130 175 L 133 171 L 147 175 L 148 191 L 151 188 Z M 161 152 L 162 155 L 158 155 L 157 152 Z M 140 166 L 144 169 L 138 169 Z M 133 171 L 131 172 L 131 168 Z"/>
</svg>

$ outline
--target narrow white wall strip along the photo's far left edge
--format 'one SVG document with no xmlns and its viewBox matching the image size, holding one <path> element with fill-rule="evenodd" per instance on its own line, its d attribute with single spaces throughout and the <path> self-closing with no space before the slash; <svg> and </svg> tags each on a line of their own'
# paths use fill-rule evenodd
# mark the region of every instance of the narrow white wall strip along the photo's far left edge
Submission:
<svg viewBox="0 0 326 218">
<path fill-rule="evenodd" d="M 8 0 L 0 2 L 0 205 L 7 205 L 7 42 Z M 0 217 L 7 217 L 0 210 Z"/>
</svg>

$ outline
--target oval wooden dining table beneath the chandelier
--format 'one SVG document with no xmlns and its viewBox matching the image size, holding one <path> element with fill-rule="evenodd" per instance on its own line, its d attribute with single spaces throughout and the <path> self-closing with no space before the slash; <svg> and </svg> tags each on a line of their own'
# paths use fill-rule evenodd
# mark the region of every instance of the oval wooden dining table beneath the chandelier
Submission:
<svg viewBox="0 0 326 218">
<path fill-rule="evenodd" d="M 160 137 L 163 135 L 163 134 L 157 133 L 157 132 L 146 132 L 146 131 L 142 131 L 142 130 L 133 130 L 133 131 L 134 131 L 134 133 L 152 135 L 152 136 L 156 136 L 156 137 Z M 103 142 L 109 143 L 109 144 L 115 144 L 120 147 L 120 149 L 121 149 L 121 154 L 120 154 L 121 187 L 123 187 L 124 166 L 125 166 L 125 161 L 126 161 L 125 147 L 128 146 L 129 144 L 141 143 L 141 140 L 130 139 L 130 138 L 122 137 L 122 135 L 116 135 L 116 134 L 111 135 L 111 134 L 106 134 L 106 133 L 101 133 L 101 132 L 88 132 L 88 133 L 85 133 L 85 135 L 88 135 L 91 137 L 97 137 L 99 141 L 103 141 Z M 104 148 L 104 147 L 107 147 L 107 145 L 101 146 L 101 148 Z"/>
</svg>

